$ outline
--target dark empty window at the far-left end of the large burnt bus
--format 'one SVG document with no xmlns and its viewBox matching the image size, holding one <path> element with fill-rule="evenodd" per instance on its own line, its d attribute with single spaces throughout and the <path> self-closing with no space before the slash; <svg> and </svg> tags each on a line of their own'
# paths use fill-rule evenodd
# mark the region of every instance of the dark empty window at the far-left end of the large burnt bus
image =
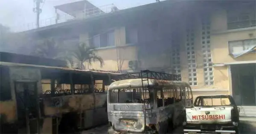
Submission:
<svg viewBox="0 0 256 134">
<path fill-rule="evenodd" d="M 0 67 L 0 100 L 12 100 L 8 67 Z"/>
</svg>

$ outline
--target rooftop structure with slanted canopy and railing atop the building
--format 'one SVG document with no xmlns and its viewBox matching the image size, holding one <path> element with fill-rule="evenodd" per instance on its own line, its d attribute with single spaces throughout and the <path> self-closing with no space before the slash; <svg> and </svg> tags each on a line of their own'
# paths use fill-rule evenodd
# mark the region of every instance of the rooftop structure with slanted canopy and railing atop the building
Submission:
<svg viewBox="0 0 256 134">
<path fill-rule="evenodd" d="M 39 27 L 47 27 L 58 23 L 69 22 L 73 20 L 84 20 L 88 17 L 108 14 L 118 10 L 113 4 L 96 7 L 87 0 L 67 3 L 59 6 L 54 6 L 56 15 L 48 19 L 40 20 Z M 15 32 L 28 31 L 36 29 L 36 23 L 27 23 L 15 27 Z"/>
</svg>

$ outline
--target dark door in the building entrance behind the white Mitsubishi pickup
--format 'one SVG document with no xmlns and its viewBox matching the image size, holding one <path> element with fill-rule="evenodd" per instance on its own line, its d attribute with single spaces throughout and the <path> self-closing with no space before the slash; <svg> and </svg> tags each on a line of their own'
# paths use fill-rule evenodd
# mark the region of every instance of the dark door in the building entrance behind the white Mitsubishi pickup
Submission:
<svg viewBox="0 0 256 134">
<path fill-rule="evenodd" d="M 255 106 L 255 83 L 253 75 L 240 77 L 242 105 Z"/>
</svg>

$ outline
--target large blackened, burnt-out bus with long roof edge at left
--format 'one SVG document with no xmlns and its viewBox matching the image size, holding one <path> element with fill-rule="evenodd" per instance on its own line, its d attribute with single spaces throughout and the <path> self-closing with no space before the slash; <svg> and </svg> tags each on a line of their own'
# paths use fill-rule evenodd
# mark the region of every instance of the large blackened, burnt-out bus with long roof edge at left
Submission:
<svg viewBox="0 0 256 134">
<path fill-rule="evenodd" d="M 9 62 L 0 62 L 0 72 L 1 134 L 74 133 L 108 123 L 105 86 L 116 73 Z"/>
</svg>

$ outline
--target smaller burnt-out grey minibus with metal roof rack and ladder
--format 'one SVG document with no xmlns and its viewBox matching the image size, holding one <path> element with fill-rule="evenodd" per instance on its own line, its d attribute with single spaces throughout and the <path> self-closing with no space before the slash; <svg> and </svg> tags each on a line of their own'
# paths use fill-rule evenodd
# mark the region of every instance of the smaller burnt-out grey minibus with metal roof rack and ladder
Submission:
<svg viewBox="0 0 256 134">
<path fill-rule="evenodd" d="M 183 108 L 192 105 L 189 84 L 180 76 L 148 70 L 137 76 L 108 88 L 109 134 L 170 133 L 182 124 Z"/>
</svg>

